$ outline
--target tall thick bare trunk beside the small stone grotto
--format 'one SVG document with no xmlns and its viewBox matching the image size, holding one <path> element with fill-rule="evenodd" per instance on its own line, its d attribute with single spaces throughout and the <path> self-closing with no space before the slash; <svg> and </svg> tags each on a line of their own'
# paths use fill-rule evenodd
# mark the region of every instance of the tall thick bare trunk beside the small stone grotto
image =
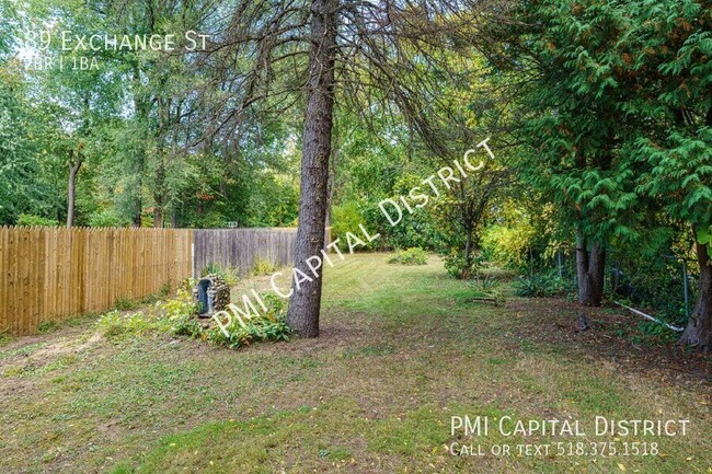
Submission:
<svg viewBox="0 0 712 474">
<path fill-rule="evenodd" d="M 329 157 L 334 112 L 334 55 L 336 49 L 337 0 L 311 2 L 311 53 L 309 91 L 305 117 L 295 267 L 313 277 L 300 284 L 289 301 L 287 324 L 301 337 L 319 335 L 319 310 L 323 267 L 318 276 L 305 261 L 320 255 L 324 246 L 324 220 L 329 182 Z"/>
</svg>

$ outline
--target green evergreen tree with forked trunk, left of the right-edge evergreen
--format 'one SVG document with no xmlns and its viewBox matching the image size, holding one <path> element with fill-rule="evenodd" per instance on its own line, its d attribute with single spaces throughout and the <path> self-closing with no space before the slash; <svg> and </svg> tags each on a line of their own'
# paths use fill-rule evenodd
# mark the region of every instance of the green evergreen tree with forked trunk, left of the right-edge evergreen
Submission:
<svg viewBox="0 0 712 474">
<path fill-rule="evenodd" d="M 612 240 L 634 240 L 641 229 L 639 171 L 622 152 L 631 92 L 615 77 L 624 63 L 624 13 L 611 2 L 522 2 L 520 23 L 505 30 L 516 51 L 508 67 L 526 78 L 520 139 L 531 148 L 519 174 L 575 234 L 582 305 L 601 302 Z"/>
</svg>

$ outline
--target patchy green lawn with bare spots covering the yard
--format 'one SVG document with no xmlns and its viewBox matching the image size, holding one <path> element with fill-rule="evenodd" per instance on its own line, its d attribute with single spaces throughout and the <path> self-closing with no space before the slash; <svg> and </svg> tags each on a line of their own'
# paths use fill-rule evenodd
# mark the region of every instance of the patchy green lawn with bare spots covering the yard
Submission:
<svg viewBox="0 0 712 474">
<path fill-rule="evenodd" d="M 328 270 L 318 339 L 114 344 L 84 319 L 4 344 L 0 472 L 712 472 L 709 358 L 621 339 L 609 323 L 638 321 L 613 310 L 575 333 L 566 301 L 474 303 L 436 257 L 384 261 Z M 253 285 L 268 284 L 241 287 Z M 583 441 L 657 442 L 659 455 L 456 456 L 453 441 L 582 439 L 505 438 L 496 426 L 451 437 L 452 415 L 581 419 Z M 691 423 L 685 438 L 597 438 L 596 415 Z"/>
</svg>

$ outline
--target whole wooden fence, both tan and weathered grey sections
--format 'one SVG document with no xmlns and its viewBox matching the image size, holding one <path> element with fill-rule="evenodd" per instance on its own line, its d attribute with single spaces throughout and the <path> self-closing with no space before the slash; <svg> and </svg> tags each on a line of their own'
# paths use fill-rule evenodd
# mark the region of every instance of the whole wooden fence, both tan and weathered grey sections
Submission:
<svg viewBox="0 0 712 474">
<path fill-rule="evenodd" d="M 145 298 L 210 263 L 243 275 L 257 257 L 292 265 L 296 239 L 296 229 L 278 228 L 0 227 L 0 333 L 31 334 L 45 320 Z"/>
</svg>

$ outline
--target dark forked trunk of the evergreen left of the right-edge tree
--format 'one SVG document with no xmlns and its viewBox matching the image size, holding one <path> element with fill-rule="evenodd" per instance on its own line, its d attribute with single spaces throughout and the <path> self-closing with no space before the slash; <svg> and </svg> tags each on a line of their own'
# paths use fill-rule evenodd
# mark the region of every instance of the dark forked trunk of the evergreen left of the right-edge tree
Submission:
<svg viewBox="0 0 712 474">
<path fill-rule="evenodd" d="M 604 299 L 606 248 L 599 243 L 588 245 L 583 232 L 576 232 L 576 275 L 578 277 L 578 304 L 600 307 Z"/>
</svg>

